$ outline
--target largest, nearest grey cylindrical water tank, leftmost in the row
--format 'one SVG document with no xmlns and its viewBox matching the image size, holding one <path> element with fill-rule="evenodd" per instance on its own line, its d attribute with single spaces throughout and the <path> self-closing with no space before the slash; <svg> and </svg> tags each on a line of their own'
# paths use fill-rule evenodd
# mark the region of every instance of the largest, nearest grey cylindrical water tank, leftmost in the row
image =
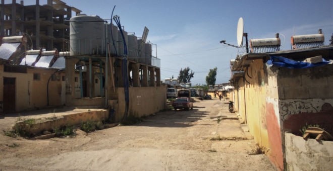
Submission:
<svg viewBox="0 0 333 171">
<path fill-rule="evenodd" d="M 70 19 L 70 53 L 73 55 L 105 54 L 105 25 L 98 16 L 80 14 Z"/>
</svg>

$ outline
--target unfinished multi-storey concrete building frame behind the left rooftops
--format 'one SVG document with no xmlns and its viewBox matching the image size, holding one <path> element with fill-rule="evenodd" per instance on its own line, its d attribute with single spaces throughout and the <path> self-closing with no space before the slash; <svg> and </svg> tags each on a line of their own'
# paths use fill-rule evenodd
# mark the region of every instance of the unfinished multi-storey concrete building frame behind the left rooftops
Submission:
<svg viewBox="0 0 333 171">
<path fill-rule="evenodd" d="M 28 37 L 27 48 L 67 51 L 69 48 L 69 22 L 72 12 L 76 15 L 81 11 L 66 5 L 60 0 L 48 0 L 47 5 L 24 6 L 13 0 L 11 4 L 1 1 L 0 8 L 0 36 Z"/>
</svg>

